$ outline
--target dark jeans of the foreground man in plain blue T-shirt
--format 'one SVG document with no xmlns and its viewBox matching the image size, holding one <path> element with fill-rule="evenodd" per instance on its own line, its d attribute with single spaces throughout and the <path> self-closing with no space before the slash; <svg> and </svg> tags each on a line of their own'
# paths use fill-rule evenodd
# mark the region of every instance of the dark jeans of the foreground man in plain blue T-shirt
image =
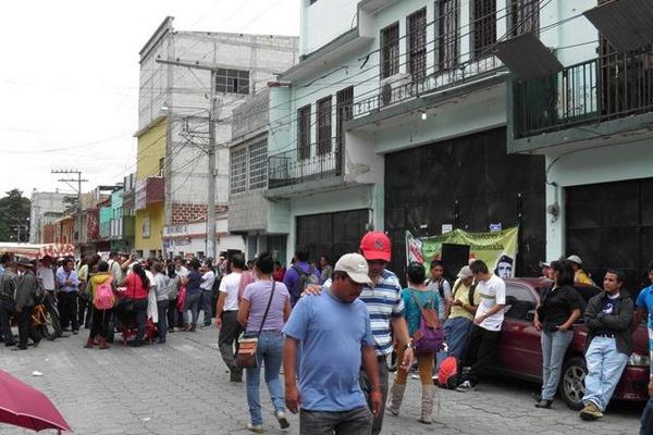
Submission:
<svg viewBox="0 0 653 435">
<path fill-rule="evenodd" d="M 371 430 L 372 413 L 368 407 L 342 412 L 303 409 L 299 413 L 300 435 L 369 435 Z"/>
</svg>

